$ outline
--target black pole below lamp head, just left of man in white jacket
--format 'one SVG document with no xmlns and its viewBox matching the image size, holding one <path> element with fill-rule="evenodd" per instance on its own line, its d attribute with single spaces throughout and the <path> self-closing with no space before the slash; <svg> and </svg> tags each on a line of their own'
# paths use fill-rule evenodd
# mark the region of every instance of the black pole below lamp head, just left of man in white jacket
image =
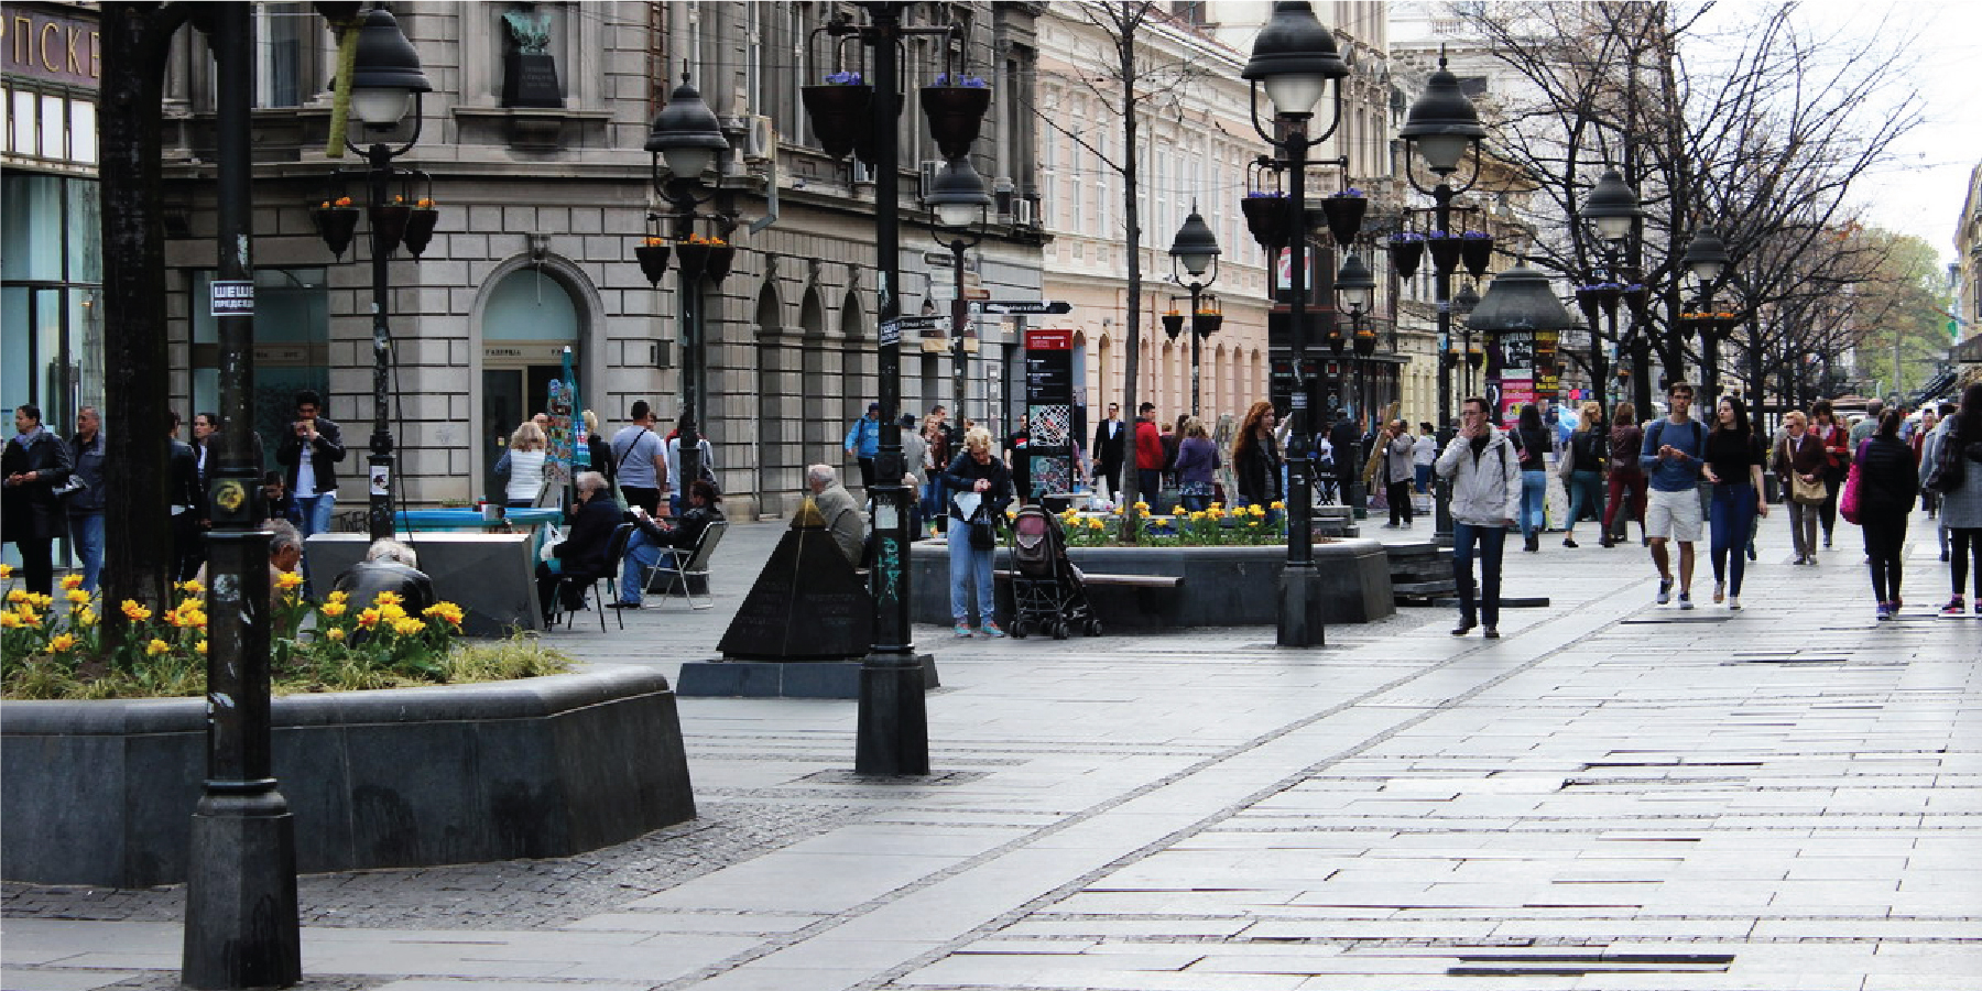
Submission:
<svg viewBox="0 0 1982 991">
<path fill-rule="evenodd" d="M 1290 230 L 1292 256 L 1288 287 L 1288 321 L 1294 325 L 1294 394 L 1288 404 L 1292 430 L 1286 438 L 1286 569 L 1280 573 L 1280 646 L 1322 646 L 1322 624 L 1308 622 L 1314 603 L 1314 488 L 1308 472 L 1308 444 L 1314 424 L 1308 410 L 1308 113 L 1286 113 L 1282 141 L 1286 151 L 1286 202 L 1294 212 Z"/>
</svg>

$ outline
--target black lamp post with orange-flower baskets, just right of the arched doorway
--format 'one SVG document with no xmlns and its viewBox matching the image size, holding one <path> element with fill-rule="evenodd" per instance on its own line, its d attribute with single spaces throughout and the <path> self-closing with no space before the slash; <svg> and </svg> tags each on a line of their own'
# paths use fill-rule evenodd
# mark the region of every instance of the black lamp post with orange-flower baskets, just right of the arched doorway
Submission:
<svg viewBox="0 0 1982 991">
<path fill-rule="evenodd" d="M 678 311 L 682 317 L 682 416 L 680 464 L 674 470 L 680 478 L 678 496 L 682 496 L 682 505 L 688 505 L 688 486 L 702 478 L 700 424 L 702 400 L 708 396 L 702 361 L 706 341 L 702 325 L 702 279 L 721 281 L 729 274 L 735 248 L 725 240 L 735 230 L 735 212 L 696 212 L 698 206 L 721 192 L 719 172 L 714 192 L 706 192 L 702 176 L 716 168 L 717 161 L 729 153 L 729 141 L 723 139 L 716 111 L 702 101 L 702 93 L 690 85 L 686 71 L 682 71 L 682 85 L 674 87 L 674 93 L 668 95 L 668 105 L 654 115 L 654 125 L 646 137 L 646 151 L 650 155 L 654 192 L 668 204 L 664 216 L 654 214 L 648 220 L 654 224 L 672 220 L 672 248 L 680 279 L 676 293 L 680 295 Z M 716 236 L 696 240 L 696 220 L 714 222 Z M 658 283 L 668 264 L 668 246 L 648 244 L 646 248 L 650 252 L 640 252 L 640 268 L 646 272 L 648 281 Z"/>
</svg>

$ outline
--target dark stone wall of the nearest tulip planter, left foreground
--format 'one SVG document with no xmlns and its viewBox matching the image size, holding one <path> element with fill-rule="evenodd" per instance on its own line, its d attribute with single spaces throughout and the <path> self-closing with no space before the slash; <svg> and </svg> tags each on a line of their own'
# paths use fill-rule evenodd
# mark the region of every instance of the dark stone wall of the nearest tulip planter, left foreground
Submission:
<svg viewBox="0 0 1982 991">
<path fill-rule="evenodd" d="M 274 700 L 299 872 L 567 856 L 696 817 L 668 680 L 644 668 Z M 206 702 L 0 706 L 0 876 L 186 880 Z"/>
</svg>

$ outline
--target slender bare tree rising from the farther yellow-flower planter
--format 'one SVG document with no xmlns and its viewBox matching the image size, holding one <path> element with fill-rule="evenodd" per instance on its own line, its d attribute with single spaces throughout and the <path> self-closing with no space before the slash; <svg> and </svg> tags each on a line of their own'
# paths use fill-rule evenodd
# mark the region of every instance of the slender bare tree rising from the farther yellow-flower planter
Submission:
<svg viewBox="0 0 1982 991">
<path fill-rule="evenodd" d="M 1102 163 L 1104 168 L 1122 176 L 1122 240 L 1128 262 L 1128 345 L 1124 347 L 1124 392 L 1122 406 L 1138 412 L 1136 379 L 1142 371 L 1142 155 L 1146 139 L 1142 135 L 1144 115 L 1181 115 L 1181 93 L 1205 69 L 1181 55 L 1167 55 L 1142 40 L 1159 26 L 1171 24 L 1163 4 L 1152 0 L 1102 0 L 1056 6 L 1076 24 L 1092 28 L 1102 38 L 1092 57 L 1076 57 L 1080 67 L 1094 67 L 1094 73 L 1072 75 L 1052 73 L 1068 91 L 1080 91 L 1096 105 L 1110 107 L 1120 125 L 1122 147 L 1110 155 L 1106 145 L 1094 141 L 1090 133 L 1072 127 L 1058 107 L 1033 105 L 1035 117 L 1052 131 L 1064 135 L 1074 145 Z M 1021 99 L 1035 99 L 1039 89 Z M 1134 440 L 1134 434 L 1132 434 Z M 1122 484 L 1122 539 L 1136 539 L 1134 505 L 1144 496 L 1134 466 L 1124 466 Z"/>
</svg>

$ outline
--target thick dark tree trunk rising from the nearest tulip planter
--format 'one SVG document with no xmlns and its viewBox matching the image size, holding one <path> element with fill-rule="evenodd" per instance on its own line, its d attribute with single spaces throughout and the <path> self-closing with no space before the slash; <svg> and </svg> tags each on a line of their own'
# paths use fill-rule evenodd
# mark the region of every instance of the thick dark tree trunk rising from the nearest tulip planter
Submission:
<svg viewBox="0 0 1982 991">
<path fill-rule="evenodd" d="M 170 595 L 166 509 L 170 361 L 165 321 L 161 103 L 165 59 L 184 4 L 103 4 L 97 145 L 103 202 L 103 454 L 115 484 L 103 507 L 103 620 L 115 603 L 161 606 Z"/>
</svg>

